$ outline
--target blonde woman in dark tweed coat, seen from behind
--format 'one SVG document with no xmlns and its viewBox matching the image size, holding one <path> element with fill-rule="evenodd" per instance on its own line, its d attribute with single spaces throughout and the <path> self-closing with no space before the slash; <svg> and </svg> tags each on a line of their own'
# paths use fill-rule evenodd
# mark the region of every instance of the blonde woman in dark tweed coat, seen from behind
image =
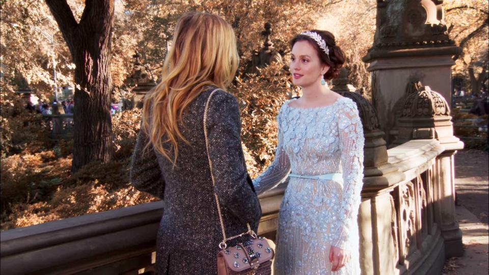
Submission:
<svg viewBox="0 0 489 275">
<path fill-rule="evenodd" d="M 228 236 L 256 232 L 260 204 L 240 141 L 238 103 L 224 90 L 239 57 L 231 26 L 207 13 L 187 13 L 175 28 L 162 81 L 145 99 L 131 161 L 131 183 L 165 201 L 156 243 L 158 274 L 215 274 L 222 241 L 218 208 Z M 204 108 L 209 101 L 204 137 Z M 229 241 L 234 245 L 238 238 Z"/>
</svg>

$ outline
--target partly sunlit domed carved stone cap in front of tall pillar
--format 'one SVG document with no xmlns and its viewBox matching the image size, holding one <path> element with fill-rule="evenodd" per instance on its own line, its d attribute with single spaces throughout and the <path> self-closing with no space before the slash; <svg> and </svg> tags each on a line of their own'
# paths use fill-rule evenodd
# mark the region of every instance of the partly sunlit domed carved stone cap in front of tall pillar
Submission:
<svg viewBox="0 0 489 275">
<path fill-rule="evenodd" d="M 404 101 L 400 117 L 431 118 L 450 116 L 450 108 L 443 96 L 431 91 L 429 86 L 420 87 L 418 92 L 411 93 Z"/>
</svg>

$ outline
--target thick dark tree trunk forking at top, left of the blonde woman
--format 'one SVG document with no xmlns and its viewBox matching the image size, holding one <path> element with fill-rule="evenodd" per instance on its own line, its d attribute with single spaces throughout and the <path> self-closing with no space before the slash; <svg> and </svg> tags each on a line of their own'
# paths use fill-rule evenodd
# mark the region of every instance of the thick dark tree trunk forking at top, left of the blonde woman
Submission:
<svg viewBox="0 0 489 275">
<path fill-rule="evenodd" d="M 66 1 L 46 0 L 71 52 L 75 69 L 73 162 L 75 172 L 112 151 L 111 40 L 114 0 L 87 0 L 79 23 Z"/>
</svg>

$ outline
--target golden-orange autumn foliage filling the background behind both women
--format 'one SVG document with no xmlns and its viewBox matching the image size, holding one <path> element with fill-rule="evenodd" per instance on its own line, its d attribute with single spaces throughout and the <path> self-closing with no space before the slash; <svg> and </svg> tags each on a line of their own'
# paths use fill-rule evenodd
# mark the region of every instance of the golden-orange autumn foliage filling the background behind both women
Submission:
<svg viewBox="0 0 489 275">
<path fill-rule="evenodd" d="M 70 0 L 68 4 L 79 20 L 84 1 Z M 469 67 L 476 73 L 487 68 L 486 4 L 479 0 L 444 4 L 450 37 L 464 48 L 464 56 L 456 61 L 454 70 L 467 79 Z M 112 117 L 112 161 L 89 163 L 71 173 L 72 137 L 51 136 L 48 121 L 29 112 L 15 93 L 19 87 L 29 87 L 40 101 L 52 100 L 53 69 L 58 86 L 74 86 L 69 50 L 42 0 L 2 1 L 1 5 L 1 229 L 155 201 L 156 198 L 135 190 L 128 179 L 130 156 L 140 128 L 140 109 L 125 110 Z M 127 97 L 124 80 L 130 74 L 135 50 L 141 53 L 151 76 L 158 78 L 174 24 L 183 12 L 220 14 L 233 25 L 238 39 L 241 67 L 229 92 L 236 95 L 240 104 L 244 155 L 251 176 L 256 177 L 273 161 L 280 106 L 297 95 L 286 67 L 289 39 L 308 29 L 332 31 L 347 55 L 352 84 L 368 94 L 370 75 L 361 58 L 373 42 L 375 5 L 369 0 L 116 2 L 112 98 Z M 244 70 L 253 50 L 263 44 L 261 32 L 266 21 L 273 26 L 270 39 L 284 62 L 271 64 L 257 75 L 246 75 Z"/>
</svg>

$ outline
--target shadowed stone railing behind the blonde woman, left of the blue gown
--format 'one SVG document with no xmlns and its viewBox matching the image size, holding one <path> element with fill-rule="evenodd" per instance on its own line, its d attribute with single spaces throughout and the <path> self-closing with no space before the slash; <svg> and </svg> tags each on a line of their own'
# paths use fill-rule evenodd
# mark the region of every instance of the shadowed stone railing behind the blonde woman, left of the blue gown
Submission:
<svg viewBox="0 0 489 275">
<path fill-rule="evenodd" d="M 287 183 L 260 196 L 259 234 L 275 231 Z M 2 274 L 138 274 L 152 270 L 163 203 L 153 202 L 0 233 Z"/>
</svg>

